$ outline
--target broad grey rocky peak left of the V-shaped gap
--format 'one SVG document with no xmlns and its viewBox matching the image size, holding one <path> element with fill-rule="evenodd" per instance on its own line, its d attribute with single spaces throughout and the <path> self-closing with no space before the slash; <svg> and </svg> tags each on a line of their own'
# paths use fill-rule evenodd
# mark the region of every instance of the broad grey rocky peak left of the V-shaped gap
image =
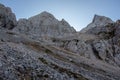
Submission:
<svg viewBox="0 0 120 80">
<path fill-rule="evenodd" d="M 48 12 L 42 12 L 29 19 L 20 19 L 14 31 L 37 38 L 40 36 L 57 37 L 76 32 L 64 19 L 58 21 Z"/>
</svg>

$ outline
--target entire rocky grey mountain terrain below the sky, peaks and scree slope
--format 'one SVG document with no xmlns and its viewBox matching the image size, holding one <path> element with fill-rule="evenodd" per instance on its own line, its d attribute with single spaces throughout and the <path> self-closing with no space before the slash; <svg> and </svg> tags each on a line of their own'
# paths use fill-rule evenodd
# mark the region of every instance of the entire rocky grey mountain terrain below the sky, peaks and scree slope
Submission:
<svg viewBox="0 0 120 80">
<path fill-rule="evenodd" d="M 77 32 L 42 12 L 16 21 L 0 4 L 0 80 L 120 80 L 120 20 Z"/>
</svg>

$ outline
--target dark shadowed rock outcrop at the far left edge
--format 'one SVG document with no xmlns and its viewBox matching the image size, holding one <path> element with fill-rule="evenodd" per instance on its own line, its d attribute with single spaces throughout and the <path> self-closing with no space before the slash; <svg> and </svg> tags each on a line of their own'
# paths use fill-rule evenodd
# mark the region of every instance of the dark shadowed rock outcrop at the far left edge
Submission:
<svg viewBox="0 0 120 80">
<path fill-rule="evenodd" d="M 9 7 L 0 4 L 0 28 L 12 29 L 16 26 L 16 17 Z"/>
</svg>

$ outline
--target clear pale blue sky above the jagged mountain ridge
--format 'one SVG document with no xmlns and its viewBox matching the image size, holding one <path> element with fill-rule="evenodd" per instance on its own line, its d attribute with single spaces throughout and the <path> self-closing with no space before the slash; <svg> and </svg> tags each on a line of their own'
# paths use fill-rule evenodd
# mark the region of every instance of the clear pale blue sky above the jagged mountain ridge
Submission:
<svg viewBox="0 0 120 80">
<path fill-rule="evenodd" d="M 64 18 L 77 31 L 86 27 L 94 14 L 120 19 L 120 0 L 0 0 L 11 7 L 17 19 L 29 18 L 43 11 L 58 20 Z"/>
</svg>

